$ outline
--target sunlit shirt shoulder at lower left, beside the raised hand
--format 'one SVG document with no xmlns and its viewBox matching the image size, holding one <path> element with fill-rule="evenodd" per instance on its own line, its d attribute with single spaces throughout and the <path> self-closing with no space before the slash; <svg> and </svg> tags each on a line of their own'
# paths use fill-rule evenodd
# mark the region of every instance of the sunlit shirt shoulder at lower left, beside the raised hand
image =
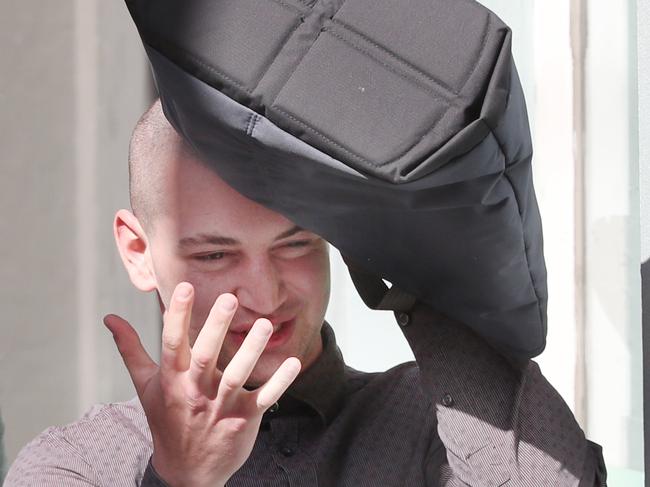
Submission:
<svg viewBox="0 0 650 487">
<path fill-rule="evenodd" d="M 137 399 L 100 404 L 78 421 L 48 428 L 27 444 L 6 485 L 61 485 L 64 479 L 66 485 L 134 485 L 151 451 L 151 434 Z"/>
</svg>

